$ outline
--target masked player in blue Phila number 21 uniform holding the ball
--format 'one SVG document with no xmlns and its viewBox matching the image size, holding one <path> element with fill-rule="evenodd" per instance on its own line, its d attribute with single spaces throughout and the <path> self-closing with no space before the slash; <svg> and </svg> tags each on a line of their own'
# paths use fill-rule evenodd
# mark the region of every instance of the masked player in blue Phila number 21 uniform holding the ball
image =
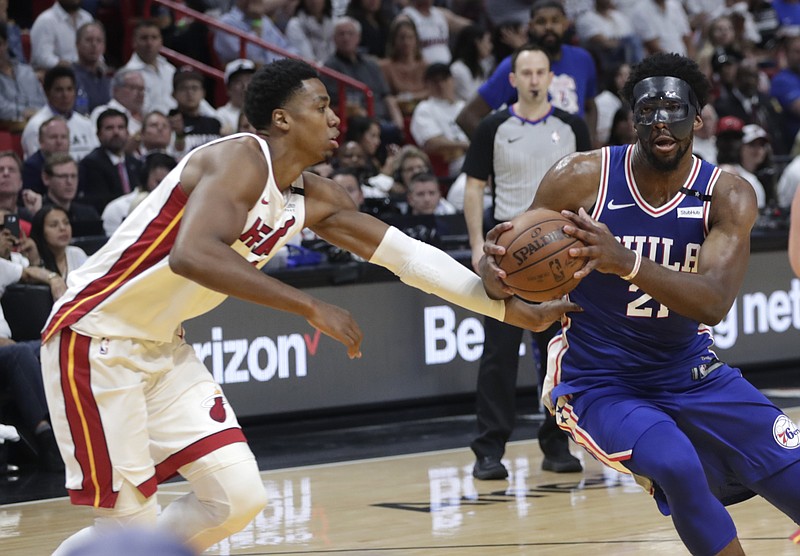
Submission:
<svg viewBox="0 0 800 556">
<path fill-rule="evenodd" d="M 757 215 L 752 187 L 692 156 L 709 84 L 656 54 L 624 93 L 637 142 L 557 162 L 532 208 L 562 211 L 586 266 L 548 349 L 543 400 L 602 463 L 633 473 L 692 554 L 743 554 L 726 504 L 755 494 L 800 522 L 800 431 L 717 359 L 713 325 L 741 286 Z M 507 223 L 487 235 L 486 255 Z M 510 292 L 484 256 L 492 297 Z"/>
</svg>

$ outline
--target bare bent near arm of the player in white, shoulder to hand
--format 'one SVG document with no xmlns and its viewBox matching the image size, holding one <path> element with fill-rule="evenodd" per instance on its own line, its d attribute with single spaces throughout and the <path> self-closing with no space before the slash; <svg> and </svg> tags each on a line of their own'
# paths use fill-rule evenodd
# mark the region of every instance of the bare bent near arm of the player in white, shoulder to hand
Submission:
<svg viewBox="0 0 800 556">
<path fill-rule="evenodd" d="M 170 268 L 211 290 L 304 317 L 359 357 L 363 334 L 350 313 L 255 268 L 231 248 L 259 202 L 268 167 L 254 139 L 228 141 L 191 155 L 181 174 L 189 195 Z"/>
</svg>

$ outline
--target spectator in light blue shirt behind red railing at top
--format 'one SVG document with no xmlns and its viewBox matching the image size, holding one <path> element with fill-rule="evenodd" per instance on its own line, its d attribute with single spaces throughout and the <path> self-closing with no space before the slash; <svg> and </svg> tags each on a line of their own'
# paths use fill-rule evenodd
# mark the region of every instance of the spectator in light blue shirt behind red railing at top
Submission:
<svg viewBox="0 0 800 556">
<path fill-rule="evenodd" d="M 280 4 L 266 3 L 263 0 L 235 0 L 233 7 L 219 18 L 220 23 L 235 27 L 244 33 L 254 35 L 277 46 L 291 54 L 299 55 L 300 52 L 290 42 L 286 35 L 270 19 L 270 16 L 280 8 Z M 222 32 L 214 32 L 214 51 L 223 64 L 239 57 L 239 37 Z M 283 58 L 282 55 L 267 50 L 253 43 L 247 44 L 248 60 L 257 64 L 268 64 L 273 60 Z"/>
</svg>

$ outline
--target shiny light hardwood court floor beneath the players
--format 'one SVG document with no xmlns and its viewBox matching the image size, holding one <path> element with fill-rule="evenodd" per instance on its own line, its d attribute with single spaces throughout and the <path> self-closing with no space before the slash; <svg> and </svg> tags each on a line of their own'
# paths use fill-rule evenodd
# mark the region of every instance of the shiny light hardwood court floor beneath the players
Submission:
<svg viewBox="0 0 800 556">
<path fill-rule="evenodd" d="M 800 418 L 800 408 L 787 413 Z M 637 485 L 575 453 L 585 472 L 557 475 L 541 471 L 535 441 L 512 442 L 508 481 L 474 480 L 468 448 L 264 471 L 267 508 L 208 553 L 687 554 L 671 521 Z M 186 490 L 181 482 L 163 485 L 159 500 Z M 796 526 L 768 504 L 753 499 L 730 510 L 748 554 L 800 554 L 788 540 Z M 0 506 L 0 553 L 49 554 L 89 523 L 90 512 L 66 498 Z"/>
</svg>

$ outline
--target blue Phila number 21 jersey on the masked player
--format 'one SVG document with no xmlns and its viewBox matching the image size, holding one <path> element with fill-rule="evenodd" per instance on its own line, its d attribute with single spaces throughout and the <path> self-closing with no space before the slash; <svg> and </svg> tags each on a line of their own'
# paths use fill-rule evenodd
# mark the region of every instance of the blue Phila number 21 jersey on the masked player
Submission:
<svg viewBox="0 0 800 556">
<path fill-rule="evenodd" d="M 634 148 L 602 149 L 592 217 L 642 258 L 676 271 L 697 272 L 708 233 L 709 199 L 720 170 L 694 158 L 681 192 L 663 206 L 652 207 L 633 177 Z M 592 272 L 569 297 L 584 312 L 568 314 L 562 327 L 554 399 L 600 383 L 680 390 L 686 375 L 668 370 L 690 373 L 692 367 L 715 358 L 708 326 L 677 314 L 619 276 Z"/>
</svg>

